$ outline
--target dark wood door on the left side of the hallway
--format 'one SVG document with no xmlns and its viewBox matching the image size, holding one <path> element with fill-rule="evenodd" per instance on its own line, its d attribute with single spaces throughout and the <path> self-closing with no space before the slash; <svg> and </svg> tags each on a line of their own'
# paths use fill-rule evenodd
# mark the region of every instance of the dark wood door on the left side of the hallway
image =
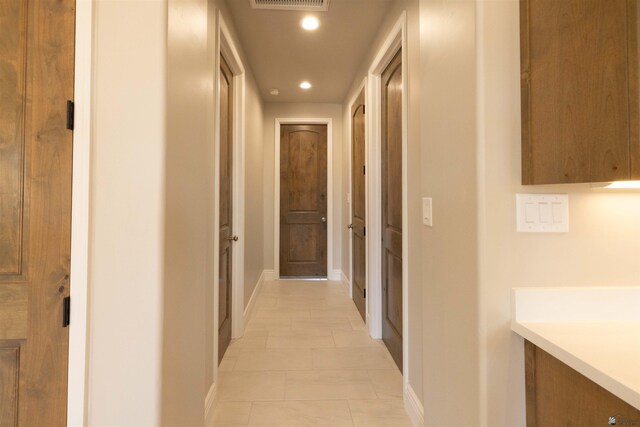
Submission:
<svg viewBox="0 0 640 427">
<path fill-rule="evenodd" d="M 220 253 L 218 362 L 231 342 L 231 289 L 233 260 L 233 74 L 220 58 Z"/>
</svg>

